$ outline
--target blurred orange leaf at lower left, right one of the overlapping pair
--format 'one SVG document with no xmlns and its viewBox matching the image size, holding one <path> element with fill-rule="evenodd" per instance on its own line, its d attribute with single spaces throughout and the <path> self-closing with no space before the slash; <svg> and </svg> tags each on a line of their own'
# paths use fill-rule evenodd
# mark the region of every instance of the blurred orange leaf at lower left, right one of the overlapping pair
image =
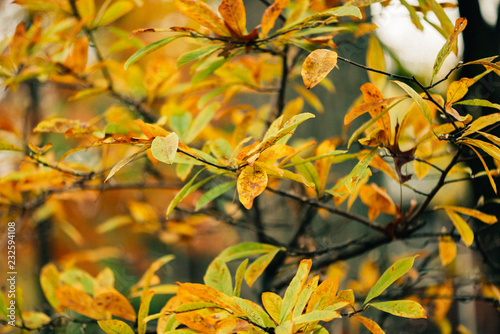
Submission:
<svg viewBox="0 0 500 334">
<path fill-rule="evenodd" d="M 135 310 L 121 293 L 112 287 L 99 288 L 94 296 L 94 308 L 104 309 L 114 316 L 135 321 Z"/>
</svg>

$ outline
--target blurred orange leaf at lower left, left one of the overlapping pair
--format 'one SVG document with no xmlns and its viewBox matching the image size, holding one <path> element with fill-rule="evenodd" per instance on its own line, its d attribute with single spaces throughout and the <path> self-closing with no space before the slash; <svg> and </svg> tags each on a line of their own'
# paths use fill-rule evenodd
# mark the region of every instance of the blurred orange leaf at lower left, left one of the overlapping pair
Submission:
<svg viewBox="0 0 500 334">
<path fill-rule="evenodd" d="M 104 318 L 103 312 L 99 312 L 93 305 L 93 299 L 85 292 L 72 286 L 64 285 L 56 289 L 56 298 L 61 305 L 72 309 L 92 319 Z"/>
</svg>

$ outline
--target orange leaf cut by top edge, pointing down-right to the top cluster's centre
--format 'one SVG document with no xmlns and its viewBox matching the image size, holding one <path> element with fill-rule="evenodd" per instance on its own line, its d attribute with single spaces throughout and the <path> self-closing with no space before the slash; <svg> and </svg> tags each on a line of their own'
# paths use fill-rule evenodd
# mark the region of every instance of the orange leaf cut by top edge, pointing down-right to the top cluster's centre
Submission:
<svg viewBox="0 0 500 334">
<path fill-rule="evenodd" d="M 219 36 L 229 36 L 224 21 L 206 3 L 198 0 L 174 0 L 177 9 L 190 19 L 210 29 Z"/>
</svg>

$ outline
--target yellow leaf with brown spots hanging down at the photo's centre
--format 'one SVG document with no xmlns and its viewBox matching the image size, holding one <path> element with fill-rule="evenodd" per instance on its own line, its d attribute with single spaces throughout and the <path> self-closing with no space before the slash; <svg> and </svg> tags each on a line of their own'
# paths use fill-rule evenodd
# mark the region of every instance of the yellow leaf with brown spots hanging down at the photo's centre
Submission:
<svg viewBox="0 0 500 334">
<path fill-rule="evenodd" d="M 236 189 L 241 204 L 247 209 L 251 209 L 253 200 L 259 196 L 267 187 L 267 174 L 258 167 L 245 167 L 238 176 Z"/>
</svg>

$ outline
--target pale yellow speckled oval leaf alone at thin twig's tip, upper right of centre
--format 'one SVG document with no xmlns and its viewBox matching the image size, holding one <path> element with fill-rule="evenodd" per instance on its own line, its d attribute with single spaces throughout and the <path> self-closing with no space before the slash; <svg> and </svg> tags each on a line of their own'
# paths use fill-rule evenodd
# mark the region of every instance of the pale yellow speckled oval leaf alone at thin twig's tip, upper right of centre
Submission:
<svg viewBox="0 0 500 334">
<path fill-rule="evenodd" d="M 318 49 L 311 52 L 302 64 L 302 79 L 307 89 L 316 86 L 337 64 L 337 52 Z"/>
</svg>

